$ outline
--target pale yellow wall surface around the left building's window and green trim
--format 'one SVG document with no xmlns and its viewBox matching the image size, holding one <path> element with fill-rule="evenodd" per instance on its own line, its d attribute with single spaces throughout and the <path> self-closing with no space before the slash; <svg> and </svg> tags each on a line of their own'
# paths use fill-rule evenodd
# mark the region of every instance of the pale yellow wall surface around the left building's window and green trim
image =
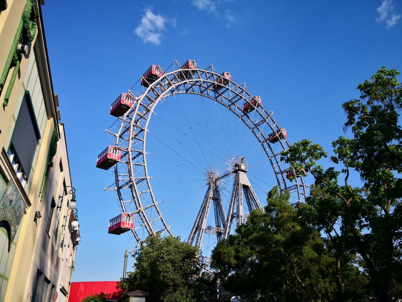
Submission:
<svg viewBox="0 0 402 302">
<path fill-rule="evenodd" d="M 4 67 L 7 67 L 6 60 L 16 36 L 24 7 L 27 4 L 25 0 L 8 0 L 7 3 L 8 8 L 0 13 L 0 72 L 4 70 Z M 39 3 L 37 4 L 40 5 Z M 42 49 L 44 45 L 38 44 L 40 43 L 38 31 L 39 25 L 35 39 L 27 43 L 29 54 L 22 56 L 9 101 L 6 106 L 0 106 L 0 151 L 3 150 L 3 153 L 4 151 L 8 152 L 10 147 L 25 91 L 29 91 L 31 95 L 35 118 L 41 133 L 41 139 L 35 150 L 29 180 L 25 188 L 28 197 L 27 203 L 31 205 L 27 207 L 26 213 L 22 217 L 10 251 L 8 251 L 7 232 L 0 227 L 0 301 L 33 301 L 33 283 L 38 268 L 55 285 L 58 291 L 58 300 L 67 300 L 67 297 L 64 297 L 59 292 L 59 280 L 70 273 L 72 265 L 72 263 L 66 263 L 67 259 L 64 260 L 62 257 L 65 250 L 62 242 L 71 240 L 69 232 L 65 232 L 62 228 L 64 215 L 68 211 L 66 201 L 62 205 L 61 211 L 56 211 L 55 209 L 49 236 L 43 232 L 47 223 L 47 213 L 49 212 L 49 203 L 51 203 L 52 197 L 55 198 L 56 205 L 59 205 L 58 196 L 63 191 L 63 179 L 66 179 L 67 185 L 71 184 L 63 130 L 63 141 L 58 142 L 57 154 L 53 158 L 55 160 L 55 167 L 52 168 L 54 171 L 49 175 L 44 198 L 41 200 L 41 197 L 39 197 L 43 175 L 47 168 L 49 145 L 54 125 L 57 121 L 52 116 L 52 112 L 47 112 L 47 108 L 54 108 L 52 107 L 54 105 L 51 103 L 52 100 L 49 100 L 49 93 L 51 93 L 49 89 L 51 87 L 43 79 L 43 72 L 39 72 L 39 70 L 47 68 L 44 61 L 47 58 L 43 58 Z M 34 45 L 36 51 L 34 51 Z M 39 48 L 41 49 L 40 53 L 39 51 L 37 52 Z M 10 83 L 12 72 L 13 68 L 8 71 L 4 90 L 0 95 L 0 104 L 3 104 L 4 94 L 8 83 Z M 64 126 L 62 128 L 64 129 Z M 62 160 L 64 166 L 62 173 L 59 172 L 60 160 Z M 1 158 L 0 169 L 9 178 L 11 174 L 15 174 L 13 170 L 4 165 L 4 159 L 1 161 Z M 5 188 L 5 179 L 1 177 L 0 173 L 0 199 Z M 21 188 L 19 189 L 21 190 Z M 25 193 L 23 196 L 25 196 Z M 35 224 L 36 211 L 40 211 L 42 217 Z M 75 251 L 74 246 L 74 255 L 70 260 L 74 260 Z M 67 270 L 67 272 L 64 270 Z M 54 301 L 54 294 L 51 297 L 51 301 Z"/>
</svg>

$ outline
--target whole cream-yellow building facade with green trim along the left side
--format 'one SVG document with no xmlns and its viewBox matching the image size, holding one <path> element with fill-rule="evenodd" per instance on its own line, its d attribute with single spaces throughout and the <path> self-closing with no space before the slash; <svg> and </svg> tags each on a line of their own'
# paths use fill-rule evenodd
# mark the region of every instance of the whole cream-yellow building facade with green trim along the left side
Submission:
<svg viewBox="0 0 402 302">
<path fill-rule="evenodd" d="M 67 301 L 80 242 L 37 0 L 0 0 L 0 301 Z"/>
</svg>

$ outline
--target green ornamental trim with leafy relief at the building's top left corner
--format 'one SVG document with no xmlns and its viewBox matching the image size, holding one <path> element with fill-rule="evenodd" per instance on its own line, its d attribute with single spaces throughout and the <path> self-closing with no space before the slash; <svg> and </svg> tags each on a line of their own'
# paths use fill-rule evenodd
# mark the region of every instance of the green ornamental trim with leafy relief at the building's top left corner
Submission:
<svg viewBox="0 0 402 302">
<path fill-rule="evenodd" d="M 24 8 L 23 15 L 21 17 L 21 21 L 18 25 L 18 29 L 15 34 L 14 40 L 12 41 L 11 49 L 6 60 L 6 65 L 4 66 L 2 75 L 0 77 L 0 95 L 1 95 L 4 89 L 4 84 L 6 83 L 8 72 L 11 68 L 14 67 L 10 83 L 8 84 L 7 87 L 6 95 L 4 97 L 3 107 L 7 106 L 12 91 L 12 87 L 14 86 L 14 82 L 18 74 L 19 64 L 22 60 L 22 55 L 17 52 L 18 43 L 26 44 L 28 41 L 33 41 L 37 30 L 37 24 L 36 24 L 37 17 L 38 17 L 38 10 L 36 1 L 28 0 Z"/>
</svg>

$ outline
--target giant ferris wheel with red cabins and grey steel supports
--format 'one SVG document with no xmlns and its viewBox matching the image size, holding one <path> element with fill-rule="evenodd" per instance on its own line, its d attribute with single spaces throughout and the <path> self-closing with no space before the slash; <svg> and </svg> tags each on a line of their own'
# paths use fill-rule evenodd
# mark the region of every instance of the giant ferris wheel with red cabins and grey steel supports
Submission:
<svg viewBox="0 0 402 302">
<path fill-rule="evenodd" d="M 303 171 L 280 161 L 285 128 L 229 72 L 194 60 L 152 65 L 110 113 L 112 144 L 96 166 L 113 170 L 105 190 L 121 214 L 109 233 L 130 231 L 131 251 L 154 234 L 182 236 L 201 248 L 208 270 L 216 243 L 263 208 L 272 186 L 289 191 L 292 204 L 305 202 Z"/>
</svg>

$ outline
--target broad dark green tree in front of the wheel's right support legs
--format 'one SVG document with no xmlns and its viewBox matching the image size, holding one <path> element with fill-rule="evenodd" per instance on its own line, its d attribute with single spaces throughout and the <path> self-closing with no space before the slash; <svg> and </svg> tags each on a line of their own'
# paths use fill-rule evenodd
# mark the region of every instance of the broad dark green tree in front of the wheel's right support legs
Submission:
<svg viewBox="0 0 402 302">
<path fill-rule="evenodd" d="M 212 259 L 222 286 L 245 301 L 334 300 L 336 260 L 277 187 L 265 211 L 252 211 Z"/>
</svg>

